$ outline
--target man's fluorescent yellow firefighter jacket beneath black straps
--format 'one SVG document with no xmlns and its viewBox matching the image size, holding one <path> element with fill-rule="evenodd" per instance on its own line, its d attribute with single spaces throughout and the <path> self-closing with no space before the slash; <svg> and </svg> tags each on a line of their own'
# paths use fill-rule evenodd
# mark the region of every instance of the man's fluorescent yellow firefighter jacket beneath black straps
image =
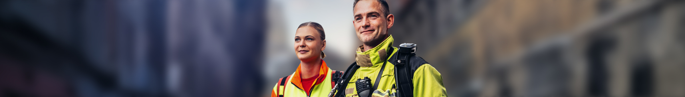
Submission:
<svg viewBox="0 0 685 97">
<path fill-rule="evenodd" d="M 398 51 L 398 48 L 392 46 L 393 41 L 393 36 L 388 36 L 384 42 L 368 51 L 362 52 L 363 46 L 357 48 L 356 62 L 360 68 L 358 68 L 354 75 L 350 76 L 351 79 L 347 81 L 347 87 L 345 87 L 344 93 L 345 97 L 358 96 L 357 90 L 355 89 L 355 82 L 357 79 L 369 77 L 369 79 L 372 80 L 371 84 L 373 85 L 373 82 L 375 82 L 373 80 L 378 76 L 384 62 L 386 63 L 386 67 L 384 68 L 378 89 L 372 90 L 372 95 L 388 95 L 390 97 L 397 95 L 395 89 L 392 89 L 395 84 L 395 65 L 386 61 L 390 59 L 390 57 L 386 57 L 386 52 L 389 51 L 390 47 L 393 48 L 392 55 Z M 415 97 L 447 96 L 445 85 L 443 85 L 443 77 L 440 75 L 440 72 L 430 64 L 423 64 L 419 66 L 419 68 L 416 68 L 412 82 L 414 85 L 413 95 Z"/>
</svg>

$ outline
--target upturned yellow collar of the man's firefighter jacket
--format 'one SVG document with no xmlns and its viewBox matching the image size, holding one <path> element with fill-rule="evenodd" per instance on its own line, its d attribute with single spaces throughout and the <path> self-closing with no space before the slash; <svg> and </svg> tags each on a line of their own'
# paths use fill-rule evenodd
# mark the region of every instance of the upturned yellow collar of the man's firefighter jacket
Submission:
<svg viewBox="0 0 685 97">
<path fill-rule="evenodd" d="M 355 60 L 357 61 L 358 66 L 362 67 L 375 67 L 379 64 L 383 64 L 384 61 L 388 59 L 387 57 L 387 52 L 389 51 L 388 48 L 392 47 L 394 48 L 393 45 L 393 36 L 390 35 L 386 40 L 381 42 L 381 44 L 378 44 L 378 46 L 369 49 L 368 51 L 362 51 L 364 49 L 364 45 L 359 46 L 357 48 L 357 54 L 355 55 Z M 395 48 L 397 49 L 397 48 Z M 392 52 L 392 51 L 390 51 Z"/>
</svg>

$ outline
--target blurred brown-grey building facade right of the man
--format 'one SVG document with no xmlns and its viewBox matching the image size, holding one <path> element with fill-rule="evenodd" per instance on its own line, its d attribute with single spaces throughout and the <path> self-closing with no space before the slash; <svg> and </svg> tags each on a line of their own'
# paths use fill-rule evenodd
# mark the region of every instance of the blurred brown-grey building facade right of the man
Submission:
<svg viewBox="0 0 685 97">
<path fill-rule="evenodd" d="M 684 1 L 389 2 L 450 96 L 685 96 Z"/>
</svg>

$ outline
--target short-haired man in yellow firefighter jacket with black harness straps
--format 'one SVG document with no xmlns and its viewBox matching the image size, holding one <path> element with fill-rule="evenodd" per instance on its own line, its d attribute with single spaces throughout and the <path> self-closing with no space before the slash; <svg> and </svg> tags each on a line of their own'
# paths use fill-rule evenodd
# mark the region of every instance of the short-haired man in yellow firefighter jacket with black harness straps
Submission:
<svg viewBox="0 0 685 97">
<path fill-rule="evenodd" d="M 351 64 L 336 97 L 370 96 L 447 96 L 440 72 L 414 55 L 416 44 L 394 47 L 395 16 L 390 14 L 384 0 L 355 0 L 352 23 L 357 37 L 363 42 L 356 51 L 356 62 Z M 408 48 L 408 49 L 401 49 Z"/>
</svg>

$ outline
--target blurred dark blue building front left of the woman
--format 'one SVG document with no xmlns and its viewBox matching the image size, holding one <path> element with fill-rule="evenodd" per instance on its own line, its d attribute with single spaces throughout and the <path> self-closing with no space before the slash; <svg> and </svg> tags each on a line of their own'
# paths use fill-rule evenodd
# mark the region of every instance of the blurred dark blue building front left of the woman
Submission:
<svg viewBox="0 0 685 97">
<path fill-rule="evenodd" d="M 264 5 L 0 1 L 0 96 L 259 94 Z"/>
</svg>

